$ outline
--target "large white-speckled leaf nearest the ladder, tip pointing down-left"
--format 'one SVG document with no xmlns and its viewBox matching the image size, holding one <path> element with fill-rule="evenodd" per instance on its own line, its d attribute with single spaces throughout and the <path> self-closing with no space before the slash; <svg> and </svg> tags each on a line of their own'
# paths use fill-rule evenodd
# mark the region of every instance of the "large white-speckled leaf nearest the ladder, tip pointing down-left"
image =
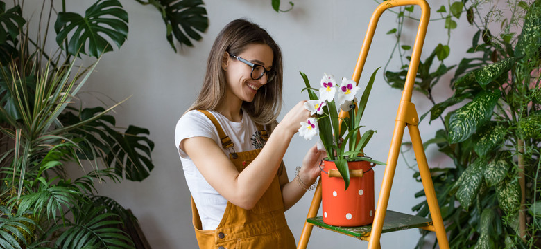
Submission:
<svg viewBox="0 0 541 249">
<path fill-rule="evenodd" d="M 477 127 L 489 120 L 499 95 L 499 91 L 483 91 L 472 102 L 454 111 L 449 118 L 449 143 L 470 138 Z"/>
</svg>

